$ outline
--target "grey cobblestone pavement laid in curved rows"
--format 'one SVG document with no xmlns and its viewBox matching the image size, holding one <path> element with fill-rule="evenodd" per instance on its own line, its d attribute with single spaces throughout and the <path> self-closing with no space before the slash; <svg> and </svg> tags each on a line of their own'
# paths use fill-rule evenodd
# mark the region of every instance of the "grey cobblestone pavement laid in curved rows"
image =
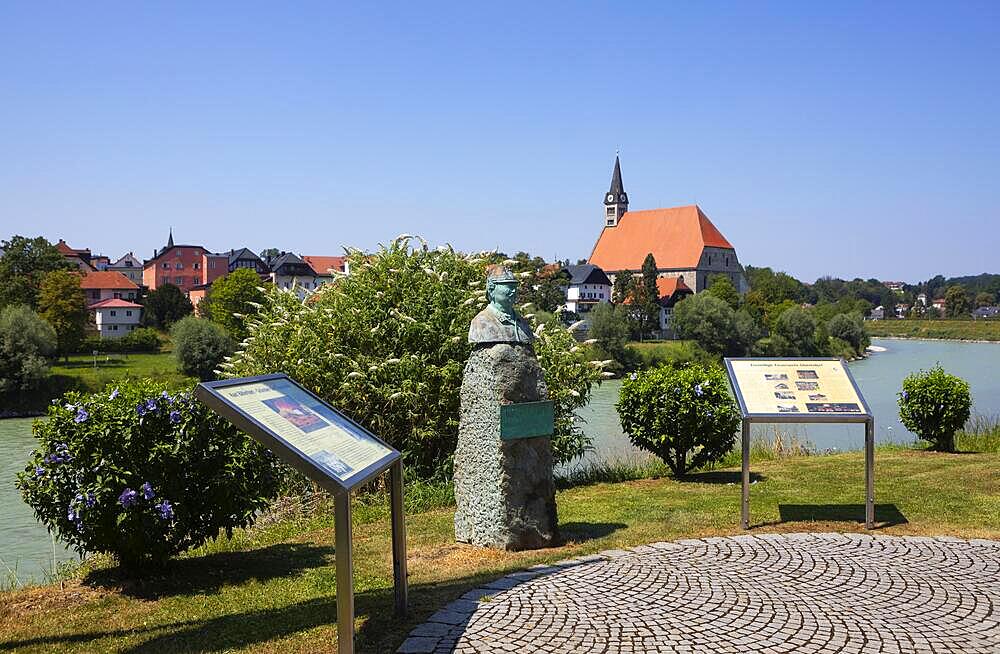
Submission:
<svg viewBox="0 0 1000 654">
<path fill-rule="evenodd" d="M 398 650 L 1000 653 L 1000 542 L 761 534 L 536 566 L 464 595 Z"/>
</svg>

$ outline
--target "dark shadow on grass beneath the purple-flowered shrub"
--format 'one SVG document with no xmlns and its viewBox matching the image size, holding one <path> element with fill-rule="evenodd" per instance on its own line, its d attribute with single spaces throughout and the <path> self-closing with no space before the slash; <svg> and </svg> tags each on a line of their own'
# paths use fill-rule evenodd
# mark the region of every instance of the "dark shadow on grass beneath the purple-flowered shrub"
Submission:
<svg viewBox="0 0 1000 654">
<path fill-rule="evenodd" d="M 174 595 L 200 595 L 223 584 L 243 584 L 296 575 L 309 568 L 332 565 L 334 549 L 297 543 L 279 543 L 248 552 L 219 552 L 172 559 L 158 575 L 137 579 L 121 568 L 91 572 L 88 586 L 113 588 L 128 597 L 156 600 Z"/>
</svg>

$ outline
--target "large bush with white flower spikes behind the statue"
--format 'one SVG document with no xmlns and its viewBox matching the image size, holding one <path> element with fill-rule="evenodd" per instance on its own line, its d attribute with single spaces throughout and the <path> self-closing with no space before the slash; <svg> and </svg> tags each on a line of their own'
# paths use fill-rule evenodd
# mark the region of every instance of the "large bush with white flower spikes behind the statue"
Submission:
<svg viewBox="0 0 1000 654">
<path fill-rule="evenodd" d="M 350 275 L 300 300 L 267 290 L 226 376 L 284 372 L 385 438 L 423 478 L 447 479 L 458 436 L 468 330 L 486 304 L 494 256 L 432 249 L 402 236 L 377 252 L 348 251 Z M 583 453 L 574 411 L 598 367 L 562 327 L 537 326 L 535 351 L 556 406 L 557 462 Z"/>
</svg>

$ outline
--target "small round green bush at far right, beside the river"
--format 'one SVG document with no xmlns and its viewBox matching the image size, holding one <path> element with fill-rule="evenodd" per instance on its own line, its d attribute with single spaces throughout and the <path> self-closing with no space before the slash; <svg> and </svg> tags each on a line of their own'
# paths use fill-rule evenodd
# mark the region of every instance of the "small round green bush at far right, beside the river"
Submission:
<svg viewBox="0 0 1000 654">
<path fill-rule="evenodd" d="M 955 451 L 955 432 L 972 411 L 969 384 L 941 366 L 913 373 L 899 393 L 899 420 L 939 452 Z"/>
</svg>

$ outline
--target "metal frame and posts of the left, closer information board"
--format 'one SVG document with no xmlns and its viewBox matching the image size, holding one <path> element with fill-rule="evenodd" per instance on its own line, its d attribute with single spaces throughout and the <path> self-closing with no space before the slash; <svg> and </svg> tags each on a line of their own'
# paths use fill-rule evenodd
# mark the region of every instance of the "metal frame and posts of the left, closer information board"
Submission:
<svg viewBox="0 0 1000 654">
<path fill-rule="evenodd" d="M 369 438 L 385 446 L 390 453 L 357 472 L 354 480 L 343 483 L 330 476 L 299 450 L 292 447 L 284 438 L 260 421 L 248 416 L 235 404 L 230 402 L 218 389 L 232 386 L 244 386 L 259 382 L 283 379 L 309 395 L 317 402 L 343 418 Z M 278 455 L 305 476 L 318 483 L 334 496 L 334 519 L 336 532 L 336 565 L 337 565 L 337 651 L 339 654 L 354 653 L 354 557 L 352 547 L 351 527 L 351 492 L 364 486 L 375 477 L 389 470 L 389 494 L 392 506 L 392 571 L 395 590 L 396 615 L 406 615 L 407 580 L 406 580 L 406 523 L 403 516 L 403 458 L 402 455 L 384 440 L 365 429 L 350 417 L 323 401 L 315 393 L 303 388 L 284 373 L 260 375 L 257 377 L 241 377 L 224 379 L 214 382 L 202 382 L 195 388 L 195 397 L 213 411 L 229 420 L 237 428 L 250 434 L 265 447 Z"/>
</svg>

